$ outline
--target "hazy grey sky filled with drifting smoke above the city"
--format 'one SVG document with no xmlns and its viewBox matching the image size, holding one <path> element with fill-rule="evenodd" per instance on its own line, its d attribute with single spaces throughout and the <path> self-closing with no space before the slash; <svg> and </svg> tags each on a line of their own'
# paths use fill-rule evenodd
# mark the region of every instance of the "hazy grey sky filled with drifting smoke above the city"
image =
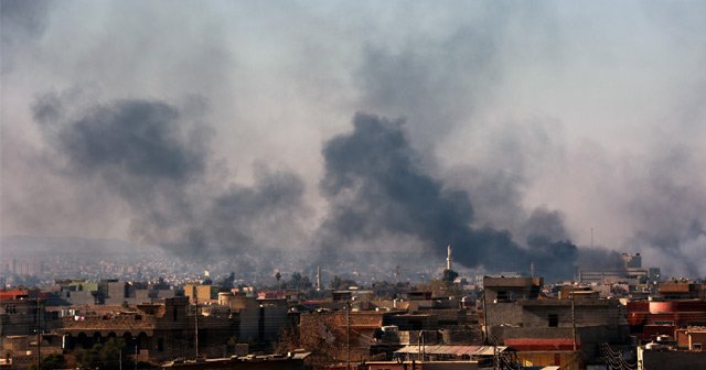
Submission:
<svg viewBox="0 0 706 370">
<path fill-rule="evenodd" d="M 706 275 L 703 1 L 1 4 L 3 237 Z"/>
</svg>

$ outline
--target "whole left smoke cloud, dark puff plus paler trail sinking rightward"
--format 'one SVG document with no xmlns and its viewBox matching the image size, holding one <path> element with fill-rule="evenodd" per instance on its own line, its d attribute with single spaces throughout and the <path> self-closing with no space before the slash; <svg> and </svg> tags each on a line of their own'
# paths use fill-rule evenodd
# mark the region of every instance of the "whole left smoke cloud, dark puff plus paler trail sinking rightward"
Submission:
<svg viewBox="0 0 706 370">
<path fill-rule="evenodd" d="M 41 97 L 34 118 L 66 175 L 105 186 L 127 206 L 136 241 L 207 260 L 281 248 L 299 232 L 288 221 L 306 211 L 301 179 L 261 167 L 253 186 L 214 186 L 212 130 L 189 122 L 189 109 L 117 100 L 71 111 L 68 96 Z"/>
</svg>

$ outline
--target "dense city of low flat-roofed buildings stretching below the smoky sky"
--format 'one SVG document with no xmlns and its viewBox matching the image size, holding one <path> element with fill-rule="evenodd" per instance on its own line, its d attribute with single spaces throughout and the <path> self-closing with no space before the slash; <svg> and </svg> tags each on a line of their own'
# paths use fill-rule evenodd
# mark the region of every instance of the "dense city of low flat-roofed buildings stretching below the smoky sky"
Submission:
<svg viewBox="0 0 706 370">
<path fill-rule="evenodd" d="M 169 262 L 159 250 L 125 255 L 84 255 L 90 263 L 79 270 L 62 263 L 78 254 L 3 259 L 2 367 L 698 369 L 706 361 L 706 284 L 665 279 L 639 253 L 622 253 L 619 269 L 579 268 L 575 280 L 555 282 L 532 271 L 459 274 L 450 246 L 446 261 L 407 274 L 403 261 L 354 274 L 297 270 L 311 255 L 274 272 L 212 274 L 216 264 L 195 271 L 197 263 Z"/>
</svg>

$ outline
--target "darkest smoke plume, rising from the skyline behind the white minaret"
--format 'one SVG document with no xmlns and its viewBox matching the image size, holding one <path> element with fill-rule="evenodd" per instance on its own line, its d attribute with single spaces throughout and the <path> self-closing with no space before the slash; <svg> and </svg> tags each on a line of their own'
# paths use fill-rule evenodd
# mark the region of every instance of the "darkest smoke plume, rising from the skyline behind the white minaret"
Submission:
<svg viewBox="0 0 706 370">
<path fill-rule="evenodd" d="M 374 242 L 392 233 L 411 237 L 439 254 L 451 244 L 457 260 L 470 268 L 526 271 L 534 262 L 547 278 L 573 275 L 576 246 L 560 239 L 566 233 L 558 214 L 533 214 L 527 224 L 530 249 L 521 248 L 507 231 L 474 229 L 469 194 L 446 187 L 424 171 L 403 121 L 359 113 L 353 126 L 353 132 L 330 140 L 323 149 L 321 189 L 331 204 L 322 225 L 324 249 L 345 248 L 355 240 Z"/>
</svg>

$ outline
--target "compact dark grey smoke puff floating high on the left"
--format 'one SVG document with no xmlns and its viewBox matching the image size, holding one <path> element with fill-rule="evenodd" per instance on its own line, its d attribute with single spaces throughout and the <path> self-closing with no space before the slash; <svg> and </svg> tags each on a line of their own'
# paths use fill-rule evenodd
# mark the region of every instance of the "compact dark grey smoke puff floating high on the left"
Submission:
<svg viewBox="0 0 706 370">
<path fill-rule="evenodd" d="M 52 104 L 54 102 L 54 104 Z M 46 97 L 35 119 L 51 126 L 62 107 Z M 179 112 L 161 101 L 125 100 L 93 107 L 85 117 L 60 129 L 58 149 L 77 170 L 116 183 L 120 177 L 184 182 L 204 171 L 205 148 L 196 131 L 182 135 Z M 115 177 L 114 177 L 115 176 Z"/>
</svg>

